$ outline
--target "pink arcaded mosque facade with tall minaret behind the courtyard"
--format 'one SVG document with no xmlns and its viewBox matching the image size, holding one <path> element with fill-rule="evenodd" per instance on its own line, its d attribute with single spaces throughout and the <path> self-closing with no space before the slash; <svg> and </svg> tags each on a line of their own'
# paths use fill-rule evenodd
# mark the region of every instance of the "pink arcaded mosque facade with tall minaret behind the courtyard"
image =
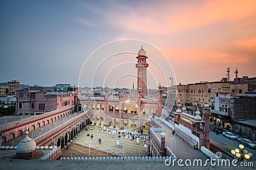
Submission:
<svg viewBox="0 0 256 170">
<path fill-rule="evenodd" d="M 104 97 L 78 96 L 78 110 L 89 110 L 89 117 L 94 124 L 106 127 L 128 129 L 129 125 L 138 132 L 143 132 L 143 124 L 148 117 L 162 113 L 162 87 L 159 83 L 158 99 L 148 97 L 147 90 L 147 67 L 148 56 L 141 46 L 136 57 L 137 89 L 135 92 L 122 94 L 118 90 L 118 96 L 108 96 L 108 87 L 104 88 Z"/>
</svg>

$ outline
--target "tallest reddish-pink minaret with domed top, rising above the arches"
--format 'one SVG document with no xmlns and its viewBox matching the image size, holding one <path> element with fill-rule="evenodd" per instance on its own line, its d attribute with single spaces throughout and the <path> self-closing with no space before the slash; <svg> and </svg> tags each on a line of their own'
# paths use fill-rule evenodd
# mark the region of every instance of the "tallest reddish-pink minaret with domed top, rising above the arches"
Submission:
<svg viewBox="0 0 256 170">
<path fill-rule="evenodd" d="M 138 69 L 137 90 L 139 90 L 139 88 L 141 89 L 142 98 L 147 96 L 147 58 L 148 57 L 146 56 L 146 52 L 141 45 L 141 49 L 138 52 L 138 57 L 136 57 L 136 59 L 138 59 L 136 68 Z"/>
</svg>

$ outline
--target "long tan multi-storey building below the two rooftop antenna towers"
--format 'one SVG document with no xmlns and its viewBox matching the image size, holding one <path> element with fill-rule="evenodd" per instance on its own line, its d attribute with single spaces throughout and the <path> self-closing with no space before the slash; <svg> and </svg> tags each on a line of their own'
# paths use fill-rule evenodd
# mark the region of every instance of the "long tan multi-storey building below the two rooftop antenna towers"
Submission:
<svg viewBox="0 0 256 170">
<path fill-rule="evenodd" d="M 236 81 L 236 79 L 234 81 L 200 81 L 200 83 L 191 83 L 188 85 L 182 85 L 180 83 L 179 85 L 175 85 L 174 89 L 177 92 L 177 99 L 180 99 L 182 103 L 202 108 L 205 103 L 211 102 L 211 97 L 215 97 L 216 93 L 230 92 L 233 96 L 236 96 L 236 94 L 253 92 L 256 89 L 255 79 L 244 76 L 240 81 Z"/>
</svg>

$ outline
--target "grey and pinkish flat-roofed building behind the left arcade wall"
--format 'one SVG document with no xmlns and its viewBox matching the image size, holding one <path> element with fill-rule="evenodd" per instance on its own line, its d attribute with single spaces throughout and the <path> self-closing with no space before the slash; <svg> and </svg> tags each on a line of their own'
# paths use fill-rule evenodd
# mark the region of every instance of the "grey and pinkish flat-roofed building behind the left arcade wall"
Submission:
<svg viewBox="0 0 256 170">
<path fill-rule="evenodd" d="M 16 115 L 40 115 L 72 105 L 74 94 L 71 93 L 18 90 Z"/>
</svg>

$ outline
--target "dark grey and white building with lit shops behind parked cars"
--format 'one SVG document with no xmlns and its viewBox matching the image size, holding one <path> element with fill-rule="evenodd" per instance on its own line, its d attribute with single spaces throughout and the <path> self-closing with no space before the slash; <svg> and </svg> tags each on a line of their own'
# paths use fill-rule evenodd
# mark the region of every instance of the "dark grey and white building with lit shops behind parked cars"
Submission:
<svg viewBox="0 0 256 170">
<path fill-rule="evenodd" d="M 231 92 L 216 93 L 211 101 L 214 104 L 211 113 L 215 125 L 256 139 L 256 94 L 237 94 L 235 97 Z"/>
</svg>

